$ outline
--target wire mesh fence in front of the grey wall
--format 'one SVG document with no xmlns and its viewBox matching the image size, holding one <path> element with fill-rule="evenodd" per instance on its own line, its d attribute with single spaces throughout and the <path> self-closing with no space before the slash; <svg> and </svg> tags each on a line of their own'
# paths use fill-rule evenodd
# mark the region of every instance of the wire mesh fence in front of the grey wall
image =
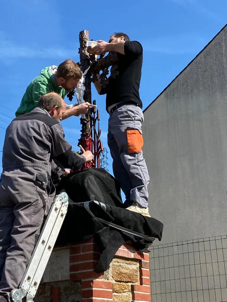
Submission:
<svg viewBox="0 0 227 302">
<path fill-rule="evenodd" d="M 227 302 L 227 235 L 150 248 L 152 302 Z"/>
</svg>

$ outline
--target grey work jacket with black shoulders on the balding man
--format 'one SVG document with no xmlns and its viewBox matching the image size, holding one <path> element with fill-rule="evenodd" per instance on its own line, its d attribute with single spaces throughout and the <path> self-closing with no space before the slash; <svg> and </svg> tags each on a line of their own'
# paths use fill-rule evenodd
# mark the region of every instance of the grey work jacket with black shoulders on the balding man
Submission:
<svg viewBox="0 0 227 302">
<path fill-rule="evenodd" d="M 64 168 L 78 169 L 85 158 L 72 151 L 61 124 L 46 110 L 35 108 L 12 120 L 5 133 L 3 173 L 33 167 L 34 176 L 50 177 L 52 160 Z"/>
</svg>

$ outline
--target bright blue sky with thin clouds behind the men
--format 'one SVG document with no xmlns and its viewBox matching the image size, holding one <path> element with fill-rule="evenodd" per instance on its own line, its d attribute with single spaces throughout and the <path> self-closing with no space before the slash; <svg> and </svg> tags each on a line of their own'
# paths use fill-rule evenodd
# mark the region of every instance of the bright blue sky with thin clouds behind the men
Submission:
<svg viewBox="0 0 227 302">
<path fill-rule="evenodd" d="M 2 1 L 0 151 L 4 128 L 15 117 L 31 80 L 46 66 L 67 58 L 79 61 L 81 30 L 87 29 L 94 40 L 107 41 L 113 32 L 123 31 L 142 43 L 140 97 L 144 109 L 225 25 L 226 10 L 226 0 Z M 100 109 L 102 140 L 107 147 L 105 96 L 97 95 L 93 87 L 92 98 Z M 62 125 L 66 139 L 79 150 L 80 119 L 71 117 Z M 111 172 L 112 161 L 107 156 Z"/>
</svg>

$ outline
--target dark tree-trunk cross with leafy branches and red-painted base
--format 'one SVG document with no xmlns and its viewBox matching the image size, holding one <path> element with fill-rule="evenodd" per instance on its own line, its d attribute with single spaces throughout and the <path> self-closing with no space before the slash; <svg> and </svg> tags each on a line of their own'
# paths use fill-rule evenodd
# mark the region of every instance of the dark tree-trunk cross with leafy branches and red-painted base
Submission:
<svg viewBox="0 0 227 302">
<path fill-rule="evenodd" d="M 100 83 L 102 87 L 106 87 L 108 84 L 107 75 L 109 74 L 109 67 L 116 64 L 118 61 L 117 53 L 110 52 L 107 56 L 100 54 L 100 58 L 97 59 L 97 55 L 87 52 L 87 42 L 89 41 L 89 31 L 84 30 L 79 34 L 79 54 L 80 63 L 77 63 L 83 73 L 82 76 L 82 99 L 78 99 L 79 102 L 89 102 L 90 104 L 96 104 L 96 101 L 92 101 L 91 98 L 91 82 L 97 81 L 97 74 L 100 73 Z M 89 68 L 89 69 L 88 69 Z M 82 81 L 81 81 L 82 82 Z M 78 86 L 77 86 L 78 90 Z M 72 101 L 75 95 L 75 90 L 69 92 L 67 97 L 69 101 Z M 96 129 L 97 122 L 97 129 Z M 100 167 L 100 153 L 103 152 L 103 145 L 100 139 L 100 113 L 99 109 L 91 108 L 87 114 L 81 116 L 81 137 L 78 142 L 78 146 L 81 145 L 85 151 L 90 150 L 94 154 L 94 160 L 90 163 L 84 163 L 83 169 L 91 167 Z"/>
</svg>

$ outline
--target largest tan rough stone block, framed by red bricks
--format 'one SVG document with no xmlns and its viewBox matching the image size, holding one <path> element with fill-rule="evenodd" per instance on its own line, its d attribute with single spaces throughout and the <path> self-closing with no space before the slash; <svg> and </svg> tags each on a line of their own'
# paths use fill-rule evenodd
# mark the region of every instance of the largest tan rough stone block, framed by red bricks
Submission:
<svg viewBox="0 0 227 302">
<path fill-rule="evenodd" d="M 139 269 L 113 264 L 112 277 L 115 281 L 136 283 L 139 282 Z"/>
</svg>

